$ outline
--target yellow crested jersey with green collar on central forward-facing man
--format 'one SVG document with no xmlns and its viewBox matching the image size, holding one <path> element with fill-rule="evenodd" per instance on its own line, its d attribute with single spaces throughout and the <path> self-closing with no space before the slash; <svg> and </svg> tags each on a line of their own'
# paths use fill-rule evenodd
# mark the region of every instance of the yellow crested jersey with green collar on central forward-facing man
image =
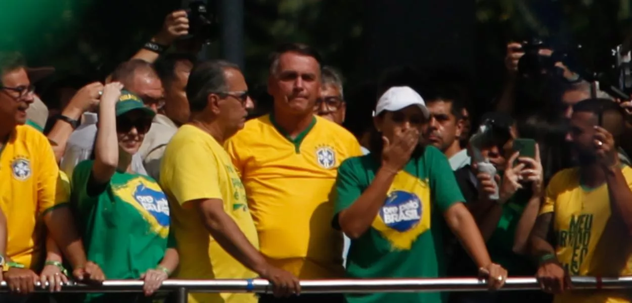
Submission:
<svg viewBox="0 0 632 303">
<path fill-rule="evenodd" d="M 274 266 L 300 278 L 344 275 L 342 234 L 331 227 L 337 168 L 362 155 L 346 129 L 321 117 L 294 140 L 274 117 L 246 122 L 226 143 L 246 187 L 259 244 Z"/>
</svg>

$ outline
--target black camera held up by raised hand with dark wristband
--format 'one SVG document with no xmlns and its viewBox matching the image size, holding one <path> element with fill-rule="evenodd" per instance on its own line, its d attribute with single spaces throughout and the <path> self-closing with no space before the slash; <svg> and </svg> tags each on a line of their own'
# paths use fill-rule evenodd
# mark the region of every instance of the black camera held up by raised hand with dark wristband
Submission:
<svg viewBox="0 0 632 303">
<path fill-rule="evenodd" d="M 214 4 L 214 3 L 210 3 Z M 212 11 L 208 9 L 205 1 L 196 0 L 189 3 L 186 14 L 189 18 L 189 37 L 210 43 L 217 40 L 219 22 L 217 21 L 216 6 L 211 5 Z"/>
</svg>

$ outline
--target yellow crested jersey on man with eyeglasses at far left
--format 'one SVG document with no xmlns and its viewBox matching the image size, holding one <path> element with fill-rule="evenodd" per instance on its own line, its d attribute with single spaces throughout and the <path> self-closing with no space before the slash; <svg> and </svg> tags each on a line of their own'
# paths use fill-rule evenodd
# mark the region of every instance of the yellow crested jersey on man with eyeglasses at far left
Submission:
<svg viewBox="0 0 632 303">
<path fill-rule="evenodd" d="M 56 199 L 59 169 L 44 134 L 17 126 L 0 152 L 0 206 L 7 218 L 7 256 L 40 270 L 46 238 L 41 218 L 68 202 Z"/>
</svg>

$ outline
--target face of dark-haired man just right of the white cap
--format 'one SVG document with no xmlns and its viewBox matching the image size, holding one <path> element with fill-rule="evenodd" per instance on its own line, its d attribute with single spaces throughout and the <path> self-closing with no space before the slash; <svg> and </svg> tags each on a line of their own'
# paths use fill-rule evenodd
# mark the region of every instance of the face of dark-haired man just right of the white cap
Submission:
<svg viewBox="0 0 632 303">
<path fill-rule="evenodd" d="M 463 122 L 452 114 L 452 102 L 435 100 L 426 107 L 430 111 L 428 128 L 423 134 L 427 143 L 441 151 L 446 151 L 455 140 L 459 140 L 463 131 Z"/>
</svg>

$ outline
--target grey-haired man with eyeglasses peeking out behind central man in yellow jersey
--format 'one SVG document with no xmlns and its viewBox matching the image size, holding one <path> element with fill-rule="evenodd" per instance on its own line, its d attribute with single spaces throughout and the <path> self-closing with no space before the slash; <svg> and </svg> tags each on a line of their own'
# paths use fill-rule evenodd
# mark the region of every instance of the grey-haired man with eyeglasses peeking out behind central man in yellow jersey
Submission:
<svg viewBox="0 0 632 303">
<path fill-rule="evenodd" d="M 343 96 L 343 77 L 331 66 L 324 66 L 320 73 L 320 97 L 316 100 L 314 112 L 320 117 L 342 125 L 347 108 Z"/>
</svg>

